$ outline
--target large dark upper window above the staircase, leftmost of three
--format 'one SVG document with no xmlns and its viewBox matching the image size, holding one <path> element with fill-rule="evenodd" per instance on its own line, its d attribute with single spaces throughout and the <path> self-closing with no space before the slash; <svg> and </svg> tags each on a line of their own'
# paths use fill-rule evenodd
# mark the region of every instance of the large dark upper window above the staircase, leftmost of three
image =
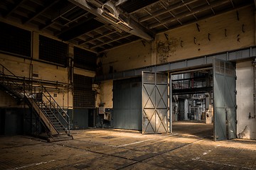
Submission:
<svg viewBox="0 0 256 170">
<path fill-rule="evenodd" d="M 0 22 L 0 50 L 31 57 L 31 32 Z"/>
</svg>

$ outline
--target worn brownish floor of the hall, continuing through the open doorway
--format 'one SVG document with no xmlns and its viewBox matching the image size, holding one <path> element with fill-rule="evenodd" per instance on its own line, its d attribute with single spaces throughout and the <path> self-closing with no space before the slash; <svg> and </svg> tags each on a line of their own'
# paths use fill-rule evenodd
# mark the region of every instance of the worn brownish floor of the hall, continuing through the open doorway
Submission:
<svg viewBox="0 0 256 170">
<path fill-rule="evenodd" d="M 180 122 L 172 135 L 88 129 L 53 143 L 0 137 L 0 169 L 256 169 L 256 141 L 212 136 L 212 124 Z"/>
</svg>

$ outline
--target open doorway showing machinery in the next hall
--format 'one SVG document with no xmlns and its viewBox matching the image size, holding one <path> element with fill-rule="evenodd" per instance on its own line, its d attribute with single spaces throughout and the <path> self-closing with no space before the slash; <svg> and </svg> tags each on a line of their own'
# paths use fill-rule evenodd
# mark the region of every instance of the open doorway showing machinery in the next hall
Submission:
<svg viewBox="0 0 256 170">
<path fill-rule="evenodd" d="M 213 140 L 213 69 L 171 74 L 174 134 Z"/>
</svg>

